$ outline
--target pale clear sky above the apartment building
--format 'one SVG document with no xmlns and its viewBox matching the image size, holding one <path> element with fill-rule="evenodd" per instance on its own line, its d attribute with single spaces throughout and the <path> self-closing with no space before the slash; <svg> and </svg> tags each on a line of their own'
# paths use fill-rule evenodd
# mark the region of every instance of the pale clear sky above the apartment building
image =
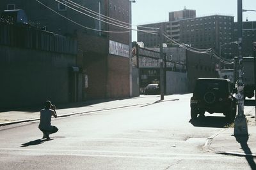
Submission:
<svg viewBox="0 0 256 170">
<path fill-rule="evenodd" d="M 136 0 L 132 3 L 132 25 L 168 21 L 170 11 L 196 10 L 196 17 L 231 15 L 237 22 L 237 0 Z M 244 10 L 256 10 L 256 0 L 243 0 Z M 256 11 L 243 13 L 243 20 L 256 21 Z M 137 41 L 132 31 L 132 41 Z"/>
</svg>

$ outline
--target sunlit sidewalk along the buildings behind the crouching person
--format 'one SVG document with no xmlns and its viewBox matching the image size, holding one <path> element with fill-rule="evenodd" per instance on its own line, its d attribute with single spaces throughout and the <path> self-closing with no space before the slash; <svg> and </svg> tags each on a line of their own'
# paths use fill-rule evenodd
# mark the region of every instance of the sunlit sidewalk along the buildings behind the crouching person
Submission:
<svg viewBox="0 0 256 170">
<path fill-rule="evenodd" d="M 164 96 L 163 101 L 177 100 L 180 95 Z M 115 100 L 93 100 L 86 101 L 82 103 L 73 104 L 61 104 L 56 106 L 56 112 L 58 117 L 68 117 L 76 114 L 86 114 L 93 113 L 96 111 L 104 110 L 115 110 L 118 108 L 126 108 L 139 105 L 154 104 L 159 102 L 160 96 L 140 96 L 125 99 L 115 99 Z M 162 102 L 163 102 L 162 101 Z M 44 104 L 42 104 L 44 106 Z M 58 109 L 62 108 L 62 109 Z M 36 109 L 36 111 L 28 111 L 29 109 L 23 109 L 23 111 L 6 111 L 0 112 L 0 126 L 17 124 L 21 122 L 29 122 L 39 120 L 40 110 L 42 108 Z M 37 111 L 38 110 L 38 111 Z"/>
</svg>

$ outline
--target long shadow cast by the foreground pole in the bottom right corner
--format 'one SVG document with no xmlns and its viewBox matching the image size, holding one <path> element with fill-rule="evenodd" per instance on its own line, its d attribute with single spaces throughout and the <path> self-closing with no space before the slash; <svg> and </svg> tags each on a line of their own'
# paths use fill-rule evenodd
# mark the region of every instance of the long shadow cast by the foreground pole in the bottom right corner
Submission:
<svg viewBox="0 0 256 170">
<path fill-rule="evenodd" d="M 252 151 L 247 144 L 249 137 L 248 136 L 235 136 L 235 137 L 236 137 L 236 141 L 238 143 L 240 143 L 241 148 L 243 149 L 244 153 L 246 154 L 245 158 L 246 158 L 248 164 L 250 165 L 250 167 L 252 169 L 256 169 L 256 164 L 253 160 Z"/>
</svg>

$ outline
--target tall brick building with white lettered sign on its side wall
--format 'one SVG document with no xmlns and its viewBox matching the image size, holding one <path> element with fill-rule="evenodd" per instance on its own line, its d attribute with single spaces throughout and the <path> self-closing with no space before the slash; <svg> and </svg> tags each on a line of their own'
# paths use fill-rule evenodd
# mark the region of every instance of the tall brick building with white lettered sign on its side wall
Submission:
<svg viewBox="0 0 256 170">
<path fill-rule="evenodd" d="M 129 55 L 127 52 L 129 50 L 129 32 L 127 32 L 129 29 L 103 22 L 102 18 L 101 21 L 97 20 L 99 14 L 93 15 L 88 12 L 89 9 L 128 23 L 129 1 L 74 1 L 79 6 L 75 4 L 72 8 L 82 13 L 63 5 L 71 6 L 68 1 L 62 1 L 63 4 L 50 0 L 38 1 L 42 4 L 30 0 L 3 0 L 0 3 L 0 11 L 22 9 L 26 12 L 29 23 L 36 27 L 77 39 L 76 64 L 79 66 L 77 83 L 82 89 L 81 94 L 77 96 L 77 101 L 129 96 Z M 94 18 L 88 15 L 93 15 Z"/>
</svg>

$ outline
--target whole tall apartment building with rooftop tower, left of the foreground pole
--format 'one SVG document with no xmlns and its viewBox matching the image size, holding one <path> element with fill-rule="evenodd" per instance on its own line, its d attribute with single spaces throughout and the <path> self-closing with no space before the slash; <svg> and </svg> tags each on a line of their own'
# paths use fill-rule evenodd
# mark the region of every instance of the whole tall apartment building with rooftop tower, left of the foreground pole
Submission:
<svg viewBox="0 0 256 170">
<path fill-rule="evenodd" d="M 169 13 L 169 21 L 163 22 L 164 32 L 169 38 L 186 43 L 195 48 L 212 48 L 216 53 L 225 48 L 225 57 L 234 57 L 234 52 L 230 46 L 225 44 L 234 41 L 234 17 L 226 15 L 211 15 L 196 17 L 195 10 L 173 11 Z M 150 27 L 157 27 L 157 24 L 148 24 Z M 143 25 L 145 26 L 145 25 Z M 145 46 L 153 47 L 159 45 L 157 36 L 150 36 L 145 32 L 138 32 L 138 41 L 142 41 Z M 164 38 L 164 43 L 170 43 Z"/>
</svg>

